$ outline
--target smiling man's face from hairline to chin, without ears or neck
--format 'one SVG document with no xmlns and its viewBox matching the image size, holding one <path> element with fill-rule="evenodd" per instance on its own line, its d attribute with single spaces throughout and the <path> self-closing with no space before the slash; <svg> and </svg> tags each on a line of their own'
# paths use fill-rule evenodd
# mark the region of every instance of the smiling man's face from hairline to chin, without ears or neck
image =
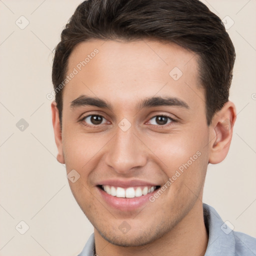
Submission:
<svg viewBox="0 0 256 256">
<path fill-rule="evenodd" d="M 209 129 L 197 68 L 193 53 L 151 40 L 90 40 L 69 57 L 60 157 L 113 244 L 150 243 L 201 207 Z"/>
</svg>

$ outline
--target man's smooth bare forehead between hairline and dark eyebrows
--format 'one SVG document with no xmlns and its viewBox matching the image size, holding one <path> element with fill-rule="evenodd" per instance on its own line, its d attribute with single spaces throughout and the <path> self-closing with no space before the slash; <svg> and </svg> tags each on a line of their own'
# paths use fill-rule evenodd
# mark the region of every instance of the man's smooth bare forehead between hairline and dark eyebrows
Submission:
<svg viewBox="0 0 256 256">
<path fill-rule="evenodd" d="M 63 103 L 64 99 L 70 103 L 81 94 L 114 99 L 126 107 L 128 103 L 135 105 L 141 97 L 156 94 L 185 101 L 192 101 L 198 94 L 203 98 L 197 56 L 174 43 L 98 39 L 81 42 L 68 59 L 66 75 L 72 72 L 75 75 L 64 87 Z"/>
</svg>

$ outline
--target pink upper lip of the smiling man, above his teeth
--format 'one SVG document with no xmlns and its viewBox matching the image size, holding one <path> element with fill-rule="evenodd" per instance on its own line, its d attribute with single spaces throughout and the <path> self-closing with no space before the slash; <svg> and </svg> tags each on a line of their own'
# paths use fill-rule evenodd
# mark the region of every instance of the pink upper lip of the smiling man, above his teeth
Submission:
<svg viewBox="0 0 256 256">
<path fill-rule="evenodd" d="M 132 187 L 132 186 L 157 186 L 159 183 L 152 183 L 149 181 L 132 179 L 132 180 L 122 180 L 122 179 L 107 179 L 102 180 L 98 183 L 98 185 L 111 185 L 111 186 L 118 186 L 118 187 Z"/>
</svg>

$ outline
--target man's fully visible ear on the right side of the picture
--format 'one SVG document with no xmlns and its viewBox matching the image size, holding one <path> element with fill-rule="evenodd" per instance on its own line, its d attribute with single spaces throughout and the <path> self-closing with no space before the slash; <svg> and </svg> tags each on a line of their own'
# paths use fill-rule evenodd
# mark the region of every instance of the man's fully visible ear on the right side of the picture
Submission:
<svg viewBox="0 0 256 256">
<path fill-rule="evenodd" d="M 227 101 L 213 116 L 209 127 L 210 139 L 213 138 L 209 143 L 209 163 L 219 163 L 226 157 L 235 119 L 235 106 L 231 101 Z"/>
</svg>

